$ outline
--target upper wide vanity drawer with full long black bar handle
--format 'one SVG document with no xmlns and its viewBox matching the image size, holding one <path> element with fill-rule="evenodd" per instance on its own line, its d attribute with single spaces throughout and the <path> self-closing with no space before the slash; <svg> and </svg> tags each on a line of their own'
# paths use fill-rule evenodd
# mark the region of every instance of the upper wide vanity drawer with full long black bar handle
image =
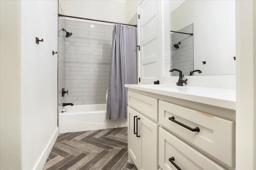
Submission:
<svg viewBox="0 0 256 170">
<path fill-rule="evenodd" d="M 200 131 L 190 131 L 177 122 L 169 120 L 170 117 L 193 129 L 197 127 Z M 159 101 L 159 123 L 198 150 L 209 154 L 228 167 L 234 167 L 234 121 Z"/>
</svg>

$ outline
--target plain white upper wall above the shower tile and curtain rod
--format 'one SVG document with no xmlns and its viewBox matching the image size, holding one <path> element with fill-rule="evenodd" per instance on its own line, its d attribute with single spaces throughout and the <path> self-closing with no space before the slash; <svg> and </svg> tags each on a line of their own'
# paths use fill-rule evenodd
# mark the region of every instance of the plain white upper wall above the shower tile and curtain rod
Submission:
<svg viewBox="0 0 256 170">
<path fill-rule="evenodd" d="M 125 23 L 125 3 L 110 0 L 60 0 L 64 15 Z M 89 20 L 68 20 L 95 23 Z M 113 25 L 112 23 L 102 23 Z"/>
</svg>

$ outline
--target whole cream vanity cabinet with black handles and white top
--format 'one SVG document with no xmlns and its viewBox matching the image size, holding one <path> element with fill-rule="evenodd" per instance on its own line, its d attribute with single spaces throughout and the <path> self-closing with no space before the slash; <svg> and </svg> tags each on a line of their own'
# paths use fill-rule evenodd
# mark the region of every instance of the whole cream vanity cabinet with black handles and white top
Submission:
<svg viewBox="0 0 256 170">
<path fill-rule="evenodd" d="M 235 169 L 232 91 L 165 85 L 126 87 L 129 162 L 139 170 Z M 196 96 L 193 89 L 205 93 Z M 212 90 L 214 98 L 209 97 Z M 223 92 L 226 94 L 218 99 L 218 93 Z"/>
</svg>

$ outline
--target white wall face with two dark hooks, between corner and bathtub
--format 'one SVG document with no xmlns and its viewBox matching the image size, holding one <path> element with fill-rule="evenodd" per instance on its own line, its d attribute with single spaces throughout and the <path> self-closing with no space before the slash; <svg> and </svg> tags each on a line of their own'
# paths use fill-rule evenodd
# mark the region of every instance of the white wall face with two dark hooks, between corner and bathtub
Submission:
<svg viewBox="0 0 256 170">
<path fill-rule="evenodd" d="M 22 3 L 22 167 L 34 169 L 57 128 L 58 1 Z"/>
</svg>

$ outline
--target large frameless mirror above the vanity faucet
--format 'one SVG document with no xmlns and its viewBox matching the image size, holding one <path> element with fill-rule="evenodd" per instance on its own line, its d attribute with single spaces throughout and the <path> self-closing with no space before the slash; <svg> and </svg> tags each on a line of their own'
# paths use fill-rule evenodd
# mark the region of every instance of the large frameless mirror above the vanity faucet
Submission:
<svg viewBox="0 0 256 170">
<path fill-rule="evenodd" d="M 170 7 L 176 6 L 170 12 L 170 29 L 193 35 L 170 32 L 170 68 L 180 68 L 185 76 L 192 70 L 202 71 L 193 75 L 236 74 L 235 1 L 186 0 L 178 3 L 181 4 L 170 1 Z M 175 40 L 177 35 L 183 37 L 183 41 L 182 38 Z M 186 47 L 188 51 L 182 52 L 189 41 L 193 42 L 193 49 Z M 178 44 L 179 48 L 176 49 L 174 44 Z M 180 55 L 192 52 L 194 56 L 185 55 L 188 57 L 186 60 Z M 175 72 L 171 75 L 177 76 Z"/>
</svg>

